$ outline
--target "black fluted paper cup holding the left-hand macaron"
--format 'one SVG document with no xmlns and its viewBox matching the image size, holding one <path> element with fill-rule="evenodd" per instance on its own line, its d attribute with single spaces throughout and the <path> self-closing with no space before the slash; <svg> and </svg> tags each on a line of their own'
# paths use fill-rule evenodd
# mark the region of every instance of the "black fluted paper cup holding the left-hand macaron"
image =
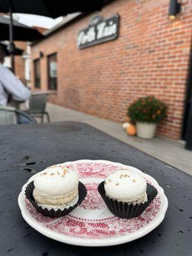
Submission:
<svg viewBox="0 0 192 256">
<path fill-rule="evenodd" d="M 40 212 L 44 216 L 51 217 L 51 218 L 59 218 L 61 216 L 67 215 L 69 212 L 74 210 L 77 207 L 77 205 L 79 205 L 83 202 L 84 198 L 86 197 L 86 193 L 87 193 L 84 184 L 79 182 L 79 186 L 78 186 L 79 200 L 78 200 L 77 204 L 70 206 L 68 209 L 65 208 L 65 209 L 63 209 L 63 211 L 61 211 L 60 209 L 55 211 L 54 209 L 51 209 L 51 210 L 48 210 L 47 208 L 43 209 L 41 206 L 39 206 L 36 203 L 35 198 L 33 197 L 33 189 L 34 188 L 35 188 L 34 182 L 31 181 L 25 190 L 26 198 L 28 198 L 28 200 L 31 202 L 31 204 L 33 204 L 33 206 L 35 207 L 35 209 L 38 212 Z"/>
</svg>

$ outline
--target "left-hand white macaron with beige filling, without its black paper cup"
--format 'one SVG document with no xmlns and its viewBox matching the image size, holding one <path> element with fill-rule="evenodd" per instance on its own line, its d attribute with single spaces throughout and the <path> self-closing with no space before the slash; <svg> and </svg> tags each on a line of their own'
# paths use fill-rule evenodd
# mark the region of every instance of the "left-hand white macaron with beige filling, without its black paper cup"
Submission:
<svg viewBox="0 0 192 256">
<path fill-rule="evenodd" d="M 79 176 L 74 169 L 50 166 L 35 176 L 33 197 L 42 209 L 68 209 L 79 200 L 78 185 Z"/>
</svg>

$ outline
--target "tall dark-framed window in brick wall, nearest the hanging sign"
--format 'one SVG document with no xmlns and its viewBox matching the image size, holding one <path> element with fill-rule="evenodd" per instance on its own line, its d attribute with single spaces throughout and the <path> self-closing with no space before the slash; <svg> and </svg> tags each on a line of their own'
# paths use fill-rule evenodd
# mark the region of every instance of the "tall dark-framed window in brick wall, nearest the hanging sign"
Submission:
<svg viewBox="0 0 192 256">
<path fill-rule="evenodd" d="M 47 57 L 48 61 L 48 87 L 49 90 L 57 90 L 57 54 L 51 54 Z"/>
</svg>

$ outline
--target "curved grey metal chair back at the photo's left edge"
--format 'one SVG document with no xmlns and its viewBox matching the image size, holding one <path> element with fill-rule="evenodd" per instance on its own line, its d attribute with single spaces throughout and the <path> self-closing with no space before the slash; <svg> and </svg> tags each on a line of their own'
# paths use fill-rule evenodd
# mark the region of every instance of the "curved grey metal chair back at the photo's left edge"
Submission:
<svg viewBox="0 0 192 256">
<path fill-rule="evenodd" d="M 27 113 L 9 106 L 0 106 L 0 125 L 36 123 Z"/>
</svg>

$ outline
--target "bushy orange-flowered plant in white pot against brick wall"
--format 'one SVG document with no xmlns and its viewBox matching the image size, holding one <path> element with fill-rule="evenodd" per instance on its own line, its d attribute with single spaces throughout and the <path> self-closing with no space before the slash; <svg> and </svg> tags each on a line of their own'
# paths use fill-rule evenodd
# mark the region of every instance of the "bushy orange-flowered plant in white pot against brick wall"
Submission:
<svg viewBox="0 0 192 256">
<path fill-rule="evenodd" d="M 153 96 L 136 100 L 128 109 L 127 115 L 136 122 L 137 135 L 140 138 L 154 137 L 157 123 L 166 117 L 166 105 Z"/>
</svg>

